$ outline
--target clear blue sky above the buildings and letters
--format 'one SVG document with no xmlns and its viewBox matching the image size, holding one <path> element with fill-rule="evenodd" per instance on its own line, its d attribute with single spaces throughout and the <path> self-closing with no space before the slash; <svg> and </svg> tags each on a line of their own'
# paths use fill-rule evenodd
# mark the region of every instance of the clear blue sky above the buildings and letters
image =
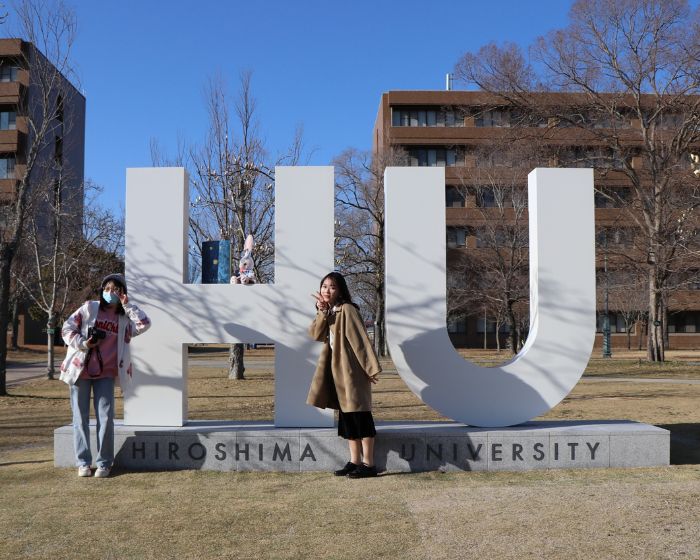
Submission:
<svg viewBox="0 0 700 560">
<path fill-rule="evenodd" d="M 569 0 L 83 0 L 74 61 L 87 99 L 85 176 L 103 204 L 124 204 L 125 170 L 201 142 L 204 87 L 221 74 L 235 94 L 253 72 L 260 131 L 271 154 L 298 124 L 327 165 L 371 148 L 382 92 L 444 89 L 459 56 L 490 41 L 530 44 L 566 23 Z"/>
</svg>

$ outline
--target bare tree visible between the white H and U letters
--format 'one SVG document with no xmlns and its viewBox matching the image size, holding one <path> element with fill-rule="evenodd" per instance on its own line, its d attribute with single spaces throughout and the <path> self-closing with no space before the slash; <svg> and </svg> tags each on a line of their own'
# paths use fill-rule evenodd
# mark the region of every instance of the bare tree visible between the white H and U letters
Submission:
<svg viewBox="0 0 700 560">
<path fill-rule="evenodd" d="M 384 170 L 406 165 L 403 150 L 369 154 L 348 149 L 336 169 L 336 264 L 374 322 L 377 355 L 386 355 L 384 293 Z"/>
</svg>

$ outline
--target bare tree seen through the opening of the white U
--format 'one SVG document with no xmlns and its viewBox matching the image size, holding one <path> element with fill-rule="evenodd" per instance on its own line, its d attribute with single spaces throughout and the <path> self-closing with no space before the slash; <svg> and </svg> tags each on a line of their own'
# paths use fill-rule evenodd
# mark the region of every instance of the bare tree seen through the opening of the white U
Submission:
<svg viewBox="0 0 700 560">
<path fill-rule="evenodd" d="M 472 167 L 458 168 L 459 184 L 451 188 L 468 201 L 470 225 L 468 231 L 449 229 L 448 245 L 465 245 L 452 265 L 459 271 L 466 296 L 467 307 L 461 314 L 475 315 L 469 311 L 469 306 L 475 306 L 480 315 L 485 311 L 493 318 L 499 348 L 499 327 L 505 322 L 508 346 L 516 353 L 520 316 L 527 311 L 529 297 L 527 173 L 536 165 L 537 152 L 530 142 L 509 136 L 502 140 L 474 150 Z"/>
</svg>

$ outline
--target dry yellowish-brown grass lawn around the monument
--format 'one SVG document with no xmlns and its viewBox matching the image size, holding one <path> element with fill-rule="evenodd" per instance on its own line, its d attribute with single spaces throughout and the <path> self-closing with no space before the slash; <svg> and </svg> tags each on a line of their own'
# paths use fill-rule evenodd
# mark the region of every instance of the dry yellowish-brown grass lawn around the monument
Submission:
<svg viewBox="0 0 700 560">
<path fill-rule="evenodd" d="M 620 358 L 593 359 L 587 375 L 700 378 L 700 354 L 658 367 Z M 214 367 L 191 369 L 191 418 L 272 418 L 269 367 L 253 360 L 248 380 L 235 382 L 217 367 L 223 355 L 196 359 Z M 441 419 L 387 366 L 378 419 Z M 663 425 L 673 434 L 668 468 L 361 481 L 198 471 L 80 479 L 53 467 L 53 429 L 70 422 L 65 385 L 10 392 L 0 398 L 0 558 L 700 558 L 700 384 L 583 380 L 546 416 Z"/>
</svg>

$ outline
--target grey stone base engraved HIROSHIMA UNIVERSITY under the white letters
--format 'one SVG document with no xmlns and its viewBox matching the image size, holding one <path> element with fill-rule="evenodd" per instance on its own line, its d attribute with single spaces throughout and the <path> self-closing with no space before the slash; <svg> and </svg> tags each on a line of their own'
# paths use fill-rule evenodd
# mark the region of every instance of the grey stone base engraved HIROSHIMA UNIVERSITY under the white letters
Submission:
<svg viewBox="0 0 700 560">
<path fill-rule="evenodd" d="M 95 454 L 94 424 L 91 426 Z M 54 464 L 75 465 L 73 429 L 54 432 Z M 115 467 L 126 470 L 332 471 L 348 460 L 334 428 L 193 421 L 182 428 L 115 426 Z M 380 422 L 380 470 L 521 471 L 669 464 L 670 432 L 630 421 L 528 422 L 473 428 L 452 422 Z"/>
</svg>

